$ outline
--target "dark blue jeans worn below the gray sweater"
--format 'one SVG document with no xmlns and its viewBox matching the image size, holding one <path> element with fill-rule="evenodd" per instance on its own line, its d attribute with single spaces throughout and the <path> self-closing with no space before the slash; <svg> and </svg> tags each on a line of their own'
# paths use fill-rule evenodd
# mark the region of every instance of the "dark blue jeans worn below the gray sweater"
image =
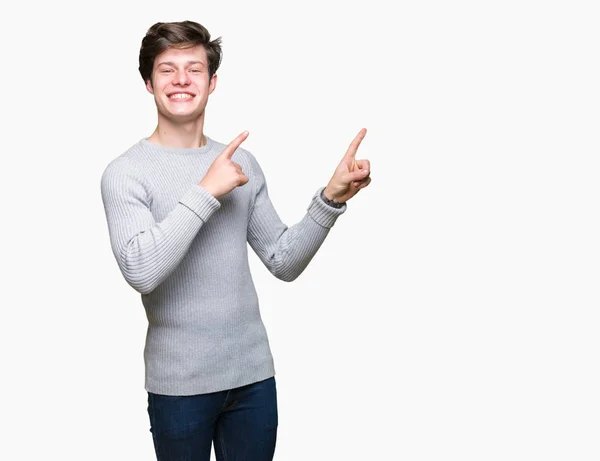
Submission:
<svg viewBox="0 0 600 461">
<path fill-rule="evenodd" d="M 209 394 L 148 392 L 158 461 L 271 461 L 277 438 L 275 377 Z"/>
</svg>

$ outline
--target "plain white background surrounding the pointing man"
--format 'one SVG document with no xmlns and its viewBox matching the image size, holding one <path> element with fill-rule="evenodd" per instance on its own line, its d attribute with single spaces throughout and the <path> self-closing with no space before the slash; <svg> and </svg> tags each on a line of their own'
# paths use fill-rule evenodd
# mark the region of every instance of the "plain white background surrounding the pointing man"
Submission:
<svg viewBox="0 0 600 461">
<path fill-rule="evenodd" d="M 288 225 L 368 129 L 300 278 L 251 252 L 275 459 L 600 459 L 595 3 L 3 7 L 0 458 L 154 459 L 100 177 L 155 127 L 142 37 L 190 19 L 223 38 L 205 132 L 250 131 Z"/>
</svg>

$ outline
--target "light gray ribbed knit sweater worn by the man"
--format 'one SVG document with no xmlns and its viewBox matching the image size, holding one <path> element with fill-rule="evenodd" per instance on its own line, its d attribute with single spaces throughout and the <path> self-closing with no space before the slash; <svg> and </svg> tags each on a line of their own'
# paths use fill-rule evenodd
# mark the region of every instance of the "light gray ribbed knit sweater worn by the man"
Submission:
<svg viewBox="0 0 600 461">
<path fill-rule="evenodd" d="M 232 160 L 249 181 L 218 199 L 198 183 L 225 144 L 172 148 L 142 138 L 113 159 L 101 193 L 113 254 L 148 318 L 145 389 L 193 395 L 275 375 L 248 246 L 278 279 L 306 268 L 347 205 L 314 194 L 304 217 L 279 218 L 256 158 Z"/>
</svg>

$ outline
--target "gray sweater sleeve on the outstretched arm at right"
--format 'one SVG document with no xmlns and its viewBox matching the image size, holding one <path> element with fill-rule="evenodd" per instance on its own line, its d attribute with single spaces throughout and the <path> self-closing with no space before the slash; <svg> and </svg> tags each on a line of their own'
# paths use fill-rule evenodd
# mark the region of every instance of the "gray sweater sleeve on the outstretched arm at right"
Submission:
<svg viewBox="0 0 600 461">
<path fill-rule="evenodd" d="M 295 280 L 308 266 L 347 205 L 334 208 L 321 199 L 321 187 L 314 194 L 304 217 L 293 226 L 283 223 L 269 198 L 263 171 L 247 152 L 252 167 L 253 201 L 248 219 L 248 243 L 278 279 Z"/>
</svg>

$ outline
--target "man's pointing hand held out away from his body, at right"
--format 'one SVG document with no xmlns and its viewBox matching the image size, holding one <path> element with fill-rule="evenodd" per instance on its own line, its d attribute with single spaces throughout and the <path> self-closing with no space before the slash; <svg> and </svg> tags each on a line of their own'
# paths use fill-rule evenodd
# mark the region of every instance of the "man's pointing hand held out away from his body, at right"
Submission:
<svg viewBox="0 0 600 461">
<path fill-rule="evenodd" d="M 370 162 L 368 160 L 356 160 L 356 151 L 366 134 L 366 128 L 358 132 L 342 161 L 335 169 L 323 191 L 325 197 L 329 200 L 347 202 L 371 182 L 369 176 L 371 174 Z"/>
</svg>

